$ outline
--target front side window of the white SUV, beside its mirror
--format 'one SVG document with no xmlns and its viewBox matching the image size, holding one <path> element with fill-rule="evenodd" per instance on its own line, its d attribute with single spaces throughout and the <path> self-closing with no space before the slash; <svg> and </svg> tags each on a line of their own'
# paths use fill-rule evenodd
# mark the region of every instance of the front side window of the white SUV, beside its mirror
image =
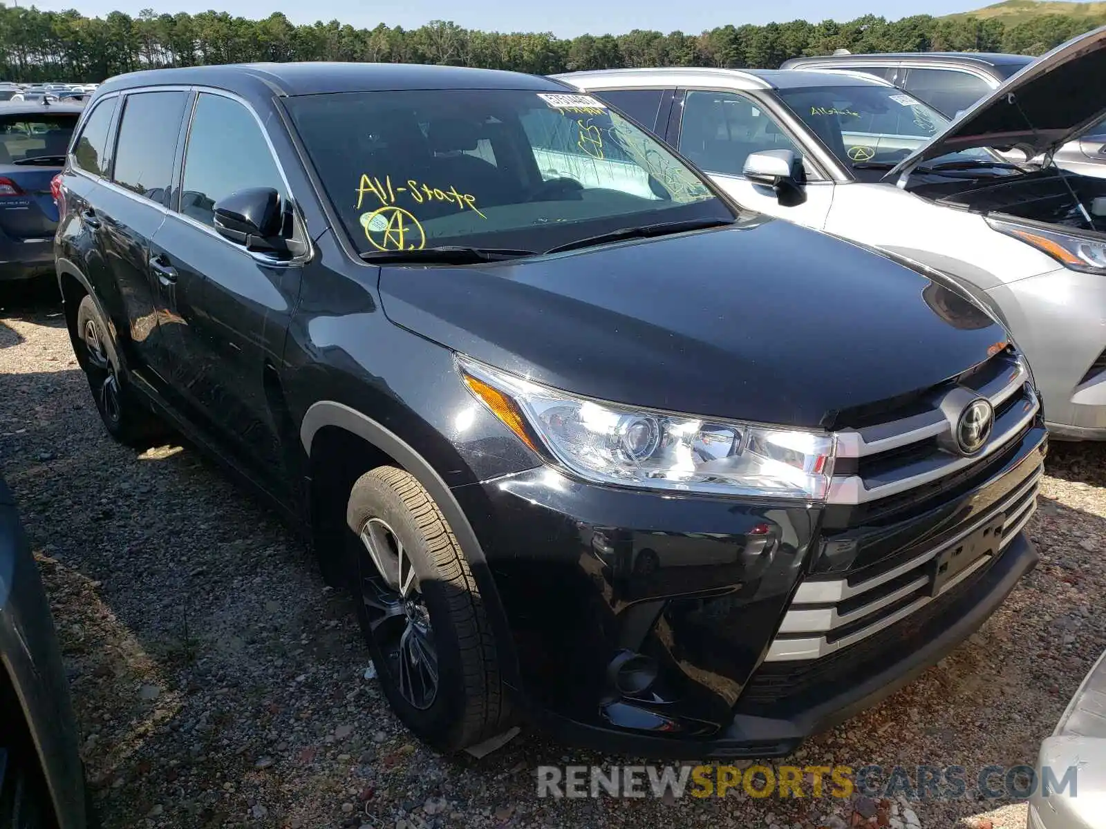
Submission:
<svg viewBox="0 0 1106 829">
<path fill-rule="evenodd" d="M 802 155 L 775 119 L 744 95 L 688 92 L 679 150 L 698 167 L 708 172 L 740 176 L 745 158 L 764 149 L 790 149 Z"/>
</svg>

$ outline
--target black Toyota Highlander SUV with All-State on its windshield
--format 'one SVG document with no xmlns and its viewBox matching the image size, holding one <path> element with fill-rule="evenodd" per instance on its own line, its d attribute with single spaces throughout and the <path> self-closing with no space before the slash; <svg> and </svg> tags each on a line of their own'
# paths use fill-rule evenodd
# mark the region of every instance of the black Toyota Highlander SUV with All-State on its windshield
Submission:
<svg viewBox="0 0 1106 829">
<path fill-rule="evenodd" d="M 1036 560 L 1045 431 L 1004 329 L 556 81 L 124 75 L 58 190 L 107 430 L 171 423 L 302 527 L 442 749 L 525 716 L 783 754 Z"/>
</svg>

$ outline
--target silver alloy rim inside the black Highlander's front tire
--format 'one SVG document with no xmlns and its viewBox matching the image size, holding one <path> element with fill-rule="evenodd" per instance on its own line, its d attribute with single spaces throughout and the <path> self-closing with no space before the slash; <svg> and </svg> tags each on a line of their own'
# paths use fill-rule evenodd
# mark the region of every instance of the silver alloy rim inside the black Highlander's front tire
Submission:
<svg viewBox="0 0 1106 829">
<path fill-rule="evenodd" d="M 403 697 L 425 711 L 438 693 L 438 651 L 415 567 L 399 536 L 382 518 L 365 522 L 361 542 L 361 558 L 367 558 L 358 563 L 362 601 L 387 661 L 383 668 L 395 678 Z"/>
</svg>

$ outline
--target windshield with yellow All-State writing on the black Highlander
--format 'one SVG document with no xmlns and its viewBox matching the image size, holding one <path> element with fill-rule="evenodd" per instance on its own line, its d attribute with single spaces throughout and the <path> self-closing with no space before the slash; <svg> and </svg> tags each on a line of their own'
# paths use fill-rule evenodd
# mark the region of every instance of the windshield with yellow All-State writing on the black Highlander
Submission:
<svg viewBox="0 0 1106 829">
<path fill-rule="evenodd" d="M 624 228 L 735 218 L 656 138 L 587 95 L 418 90 L 286 105 L 361 253 L 546 251 Z"/>
</svg>

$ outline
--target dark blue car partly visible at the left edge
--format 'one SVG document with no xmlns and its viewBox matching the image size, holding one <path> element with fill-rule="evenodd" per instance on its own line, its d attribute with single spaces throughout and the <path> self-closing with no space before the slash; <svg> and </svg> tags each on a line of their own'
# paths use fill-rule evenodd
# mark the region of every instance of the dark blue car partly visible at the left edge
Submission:
<svg viewBox="0 0 1106 829">
<path fill-rule="evenodd" d="M 0 103 L 0 281 L 52 273 L 58 204 L 51 179 L 65 165 L 84 105 Z"/>
</svg>

